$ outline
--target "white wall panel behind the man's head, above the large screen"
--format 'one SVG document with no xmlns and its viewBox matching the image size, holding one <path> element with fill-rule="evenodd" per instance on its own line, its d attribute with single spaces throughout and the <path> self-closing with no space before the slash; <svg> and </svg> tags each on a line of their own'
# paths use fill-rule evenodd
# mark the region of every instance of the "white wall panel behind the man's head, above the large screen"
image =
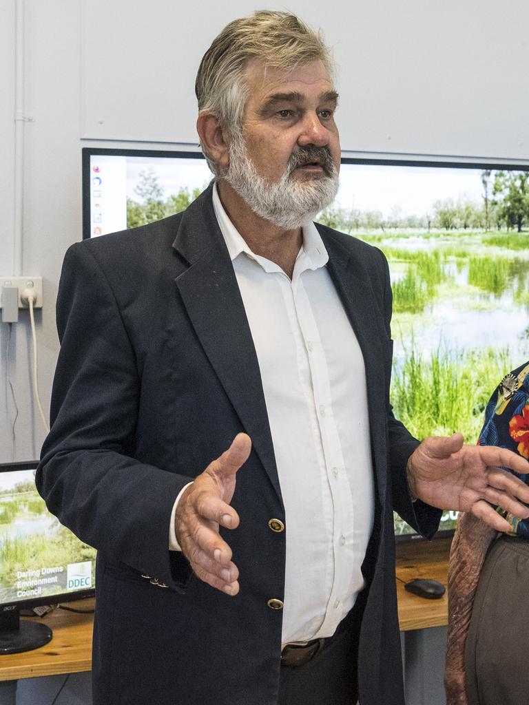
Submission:
<svg viewBox="0 0 529 705">
<path fill-rule="evenodd" d="M 128 6 L 83 6 L 82 135 L 194 142 L 193 78 L 203 51 L 226 20 L 261 3 L 231 0 L 229 12 L 212 1 L 200 12 L 172 0 L 141 0 L 123 12 Z M 483 0 L 288 6 L 322 25 L 334 47 L 343 149 L 528 157 L 523 0 L 501 8 Z"/>
</svg>

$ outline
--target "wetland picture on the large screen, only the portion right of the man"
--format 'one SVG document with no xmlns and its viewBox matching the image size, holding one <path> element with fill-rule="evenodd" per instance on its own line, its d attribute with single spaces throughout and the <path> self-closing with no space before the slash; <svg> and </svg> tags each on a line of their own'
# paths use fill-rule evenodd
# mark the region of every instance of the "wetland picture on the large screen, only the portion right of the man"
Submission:
<svg viewBox="0 0 529 705">
<path fill-rule="evenodd" d="M 475 443 L 494 388 L 529 359 L 529 171 L 344 164 L 321 221 L 388 259 L 396 417 L 418 439 Z M 395 529 L 411 532 L 396 515 Z"/>
</svg>

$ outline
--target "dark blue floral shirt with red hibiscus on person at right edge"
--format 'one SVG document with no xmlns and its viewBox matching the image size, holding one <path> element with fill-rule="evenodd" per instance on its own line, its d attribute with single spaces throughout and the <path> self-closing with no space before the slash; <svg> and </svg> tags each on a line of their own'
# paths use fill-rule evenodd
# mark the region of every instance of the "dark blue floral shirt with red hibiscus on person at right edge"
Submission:
<svg viewBox="0 0 529 705">
<path fill-rule="evenodd" d="M 529 362 L 504 376 L 492 394 L 478 445 L 507 448 L 529 460 Z M 529 484 L 529 470 L 518 477 Z M 511 525 L 511 536 L 529 539 L 529 519 L 519 520 L 499 508 L 497 511 Z"/>
</svg>

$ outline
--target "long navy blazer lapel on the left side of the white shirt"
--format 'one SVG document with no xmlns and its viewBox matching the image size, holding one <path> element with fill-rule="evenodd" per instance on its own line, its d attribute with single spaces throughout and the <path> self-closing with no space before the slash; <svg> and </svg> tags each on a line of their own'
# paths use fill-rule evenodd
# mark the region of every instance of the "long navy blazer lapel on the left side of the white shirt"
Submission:
<svg viewBox="0 0 529 705">
<path fill-rule="evenodd" d="M 191 324 L 281 498 L 261 374 L 212 186 L 183 214 L 173 247 L 188 269 L 175 280 Z"/>
</svg>

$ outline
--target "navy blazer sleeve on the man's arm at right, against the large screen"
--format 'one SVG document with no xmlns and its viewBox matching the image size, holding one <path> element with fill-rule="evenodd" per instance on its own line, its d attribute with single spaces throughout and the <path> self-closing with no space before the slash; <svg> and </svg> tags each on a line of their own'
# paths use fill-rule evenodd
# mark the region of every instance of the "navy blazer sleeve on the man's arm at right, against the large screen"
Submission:
<svg viewBox="0 0 529 705">
<path fill-rule="evenodd" d="M 389 283 L 389 266 L 382 251 L 378 250 L 384 266 L 384 318 L 388 337 L 391 338 L 391 309 L 393 296 Z M 393 508 L 404 521 L 423 537 L 431 538 L 439 527 L 442 511 L 418 499 L 413 502 L 406 480 L 406 464 L 420 441 L 394 417 L 388 400 L 387 422 L 389 431 L 389 474 L 393 490 Z"/>
</svg>

